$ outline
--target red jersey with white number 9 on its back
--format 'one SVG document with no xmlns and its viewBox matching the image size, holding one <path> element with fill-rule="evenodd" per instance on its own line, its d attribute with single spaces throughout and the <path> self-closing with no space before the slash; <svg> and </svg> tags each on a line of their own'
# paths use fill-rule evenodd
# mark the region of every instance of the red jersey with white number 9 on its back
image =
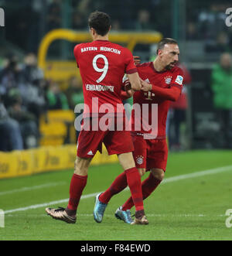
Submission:
<svg viewBox="0 0 232 256">
<path fill-rule="evenodd" d="M 84 103 L 89 108 L 84 109 L 84 114 L 123 112 L 121 80 L 125 73 L 137 72 L 129 49 L 107 40 L 95 40 L 75 46 L 74 56 L 83 82 Z M 106 110 L 105 104 L 112 108 Z"/>
</svg>

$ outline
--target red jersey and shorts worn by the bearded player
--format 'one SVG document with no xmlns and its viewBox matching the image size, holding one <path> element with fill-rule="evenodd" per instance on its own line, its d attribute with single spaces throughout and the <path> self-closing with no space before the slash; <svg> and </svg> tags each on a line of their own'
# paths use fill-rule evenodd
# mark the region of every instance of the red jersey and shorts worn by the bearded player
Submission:
<svg viewBox="0 0 232 256">
<path fill-rule="evenodd" d="M 132 110 L 132 131 L 131 135 L 135 146 L 133 152 L 136 166 L 140 169 L 159 168 L 165 171 L 168 159 L 168 148 L 166 144 L 166 119 L 169 111 L 170 101 L 178 99 L 183 87 L 183 71 L 179 67 L 172 67 L 170 70 L 155 70 L 154 63 L 143 63 L 137 65 L 139 77 L 143 80 L 144 87 L 141 91 L 135 92 L 133 103 L 139 104 L 142 108 L 148 104 L 148 124 L 152 121 L 152 104 L 157 104 L 157 125 L 155 135 L 151 131 L 135 131 L 135 124 L 142 123 L 143 117 L 137 116 Z M 159 86 L 157 86 L 159 85 Z M 148 125 L 145 125 L 148 127 Z"/>
</svg>

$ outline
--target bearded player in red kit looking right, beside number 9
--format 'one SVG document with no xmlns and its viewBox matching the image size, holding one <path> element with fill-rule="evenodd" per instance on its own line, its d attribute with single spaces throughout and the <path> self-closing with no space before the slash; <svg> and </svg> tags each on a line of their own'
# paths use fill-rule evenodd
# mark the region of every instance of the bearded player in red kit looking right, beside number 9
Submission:
<svg viewBox="0 0 232 256">
<path fill-rule="evenodd" d="M 168 147 L 165 136 L 165 123 L 167 113 L 169 111 L 170 101 L 177 101 L 183 87 L 183 71 L 176 67 L 179 60 L 179 46 L 174 39 L 165 38 L 158 44 L 157 57 L 154 62 L 138 64 L 139 77 L 142 81 L 142 90 L 127 93 L 122 92 L 123 98 L 127 98 L 128 94 L 133 95 L 133 103 L 139 104 L 143 108 L 143 104 L 148 104 L 148 117 L 144 118 L 135 114 L 132 109 L 131 122 L 135 151 L 133 156 L 141 176 L 149 171 L 150 174 L 142 183 L 142 194 L 145 200 L 162 182 L 165 176 L 165 168 L 168 158 Z M 135 125 L 144 122 L 144 119 L 151 124 L 152 120 L 152 104 L 158 104 L 158 131 L 152 134 L 152 130 L 146 131 L 142 128 L 138 131 Z M 148 124 L 146 125 L 148 126 Z M 99 200 L 102 203 L 108 203 L 111 196 L 119 193 L 127 186 L 125 174 L 122 174 L 109 189 L 101 194 Z M 112 192 L 113 191 L 113 192 Z M 133 201 L 129 198 L 122 207 L 116 210 L 115 217 L 124 220 L 125 223 L 131 223 L 131 207 L 134 206 Z"/>
</svg>

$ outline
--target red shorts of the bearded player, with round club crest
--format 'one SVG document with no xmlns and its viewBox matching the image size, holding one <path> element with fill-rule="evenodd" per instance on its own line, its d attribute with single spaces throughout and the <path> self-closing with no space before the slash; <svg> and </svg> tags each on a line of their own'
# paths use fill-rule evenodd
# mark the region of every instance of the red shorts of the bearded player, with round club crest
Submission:
<svg viewBox="0 0 232 256">
<path fill-rule="evenodd" d="M 144 139 L 132 136 L 135 151 L 133 156 L 137 168 L 149 171 L 152 168 L 163 169 L 165 172 L 168 160 L 168 146 L 165 139 Z"/>
</svg>

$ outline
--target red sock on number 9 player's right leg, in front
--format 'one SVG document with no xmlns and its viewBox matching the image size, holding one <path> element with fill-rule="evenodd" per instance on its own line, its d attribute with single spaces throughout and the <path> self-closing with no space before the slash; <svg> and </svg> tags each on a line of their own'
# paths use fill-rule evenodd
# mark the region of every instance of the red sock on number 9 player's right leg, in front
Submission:
<svg viewBox="0 0 232 256">
<path fill-rule="evenodd" d="M 135 210 L 144 210 L 142 200 L 141 177 L 136 167 L 125 170 Z"/>
</svg>

